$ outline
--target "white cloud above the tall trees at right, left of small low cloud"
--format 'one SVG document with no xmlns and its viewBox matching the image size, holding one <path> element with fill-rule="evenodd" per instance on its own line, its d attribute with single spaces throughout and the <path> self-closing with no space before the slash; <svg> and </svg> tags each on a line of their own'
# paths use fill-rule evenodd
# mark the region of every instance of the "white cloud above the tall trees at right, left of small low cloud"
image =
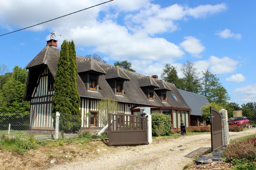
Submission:
<svg viewBox="0 0 256 170">
<path fill-rule="evenodd" d="M 237 68 L 238 61 L 229 57 L 218 58 L 216 56 L 210 56 L 209 62 L 211 64 L 210 70 L 214 74 L 223 74 L 234 72 Z"/>
</svg>

